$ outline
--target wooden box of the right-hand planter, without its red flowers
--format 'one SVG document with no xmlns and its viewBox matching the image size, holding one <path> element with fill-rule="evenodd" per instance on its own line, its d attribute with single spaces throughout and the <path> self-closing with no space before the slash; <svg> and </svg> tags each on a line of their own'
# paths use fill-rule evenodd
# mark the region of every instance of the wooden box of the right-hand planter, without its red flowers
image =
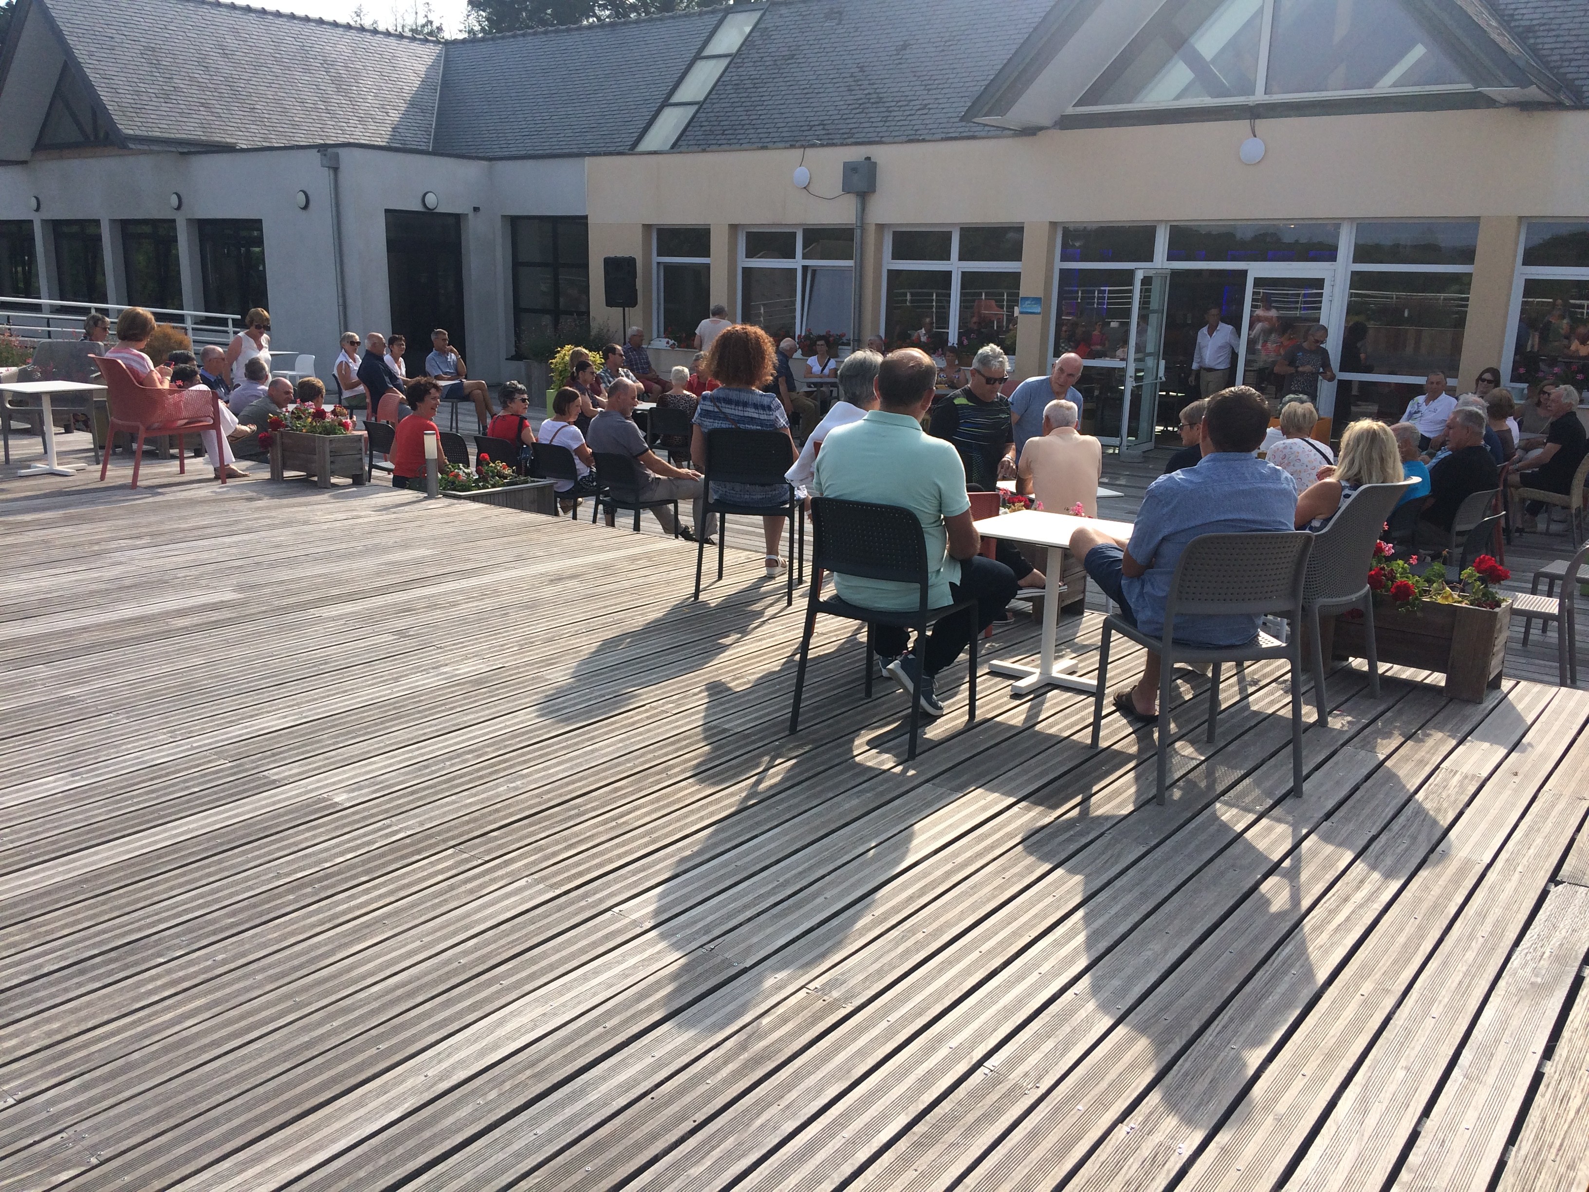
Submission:
<svg viewBox="0 0 1589 1192">
<path fill-rule="evenodd" d="M 1365 656 L 1363 621 L 1341 615 L 1320 629 L 1330 656 Z M 1390 598 L 1374 598 L 1374 650 L 1379 661 L 1440 671 L 1452 699 L 1478 704 L 1484 701 L 1486 688 L 1500 687 L 1510 629 L 1510 601 L 1498 609 L 1424 601 L 1416 613 L 1406 613 L 1398 612 Z"/>
</svg>

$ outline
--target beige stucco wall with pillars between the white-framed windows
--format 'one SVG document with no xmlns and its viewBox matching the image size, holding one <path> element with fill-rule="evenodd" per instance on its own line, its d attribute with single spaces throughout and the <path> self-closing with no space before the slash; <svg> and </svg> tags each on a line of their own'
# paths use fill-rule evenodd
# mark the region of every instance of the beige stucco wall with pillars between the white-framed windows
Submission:
<svg viewBox="0 0 1589 1192">
<path fill-rule="evenodd" d="M 804 151 L 809 192 L 790 181 L 801 149 L 593 157 L 586 164 L 593 272 L 602 253 L 615 251 L 597 245 L 624 243 L 648 278 L 642 224 L 712 224 L 712 292 L 728 300 L 733 235 L 723 245 L 717 229 L 852 223 L 850 195 L 818 195 L 839 194 L 844 161 L 871 156 L 879 189 L 866 213 L 866 329 L 876 329 L 880 305 L 880 227 L 1023 223 L 1022 294 L 1044 297 L 1044 315 L 1020 323 L 1017 364 L 1033 372 L 1042 367 L 1052 335 L 1054 224 L 1481 216 L 1462 362 L 1470 381 L 1498 359 L 1505 342 L 1517 221 L 1589 218 L 1581 148 L 1589 113 L 1320 116 L 1260 121 L 1257 132 L 1268 153 L 1255 167 L 1236 157 L 1249 135 L 1246 121 L 812 148 Z"/>
</svg>

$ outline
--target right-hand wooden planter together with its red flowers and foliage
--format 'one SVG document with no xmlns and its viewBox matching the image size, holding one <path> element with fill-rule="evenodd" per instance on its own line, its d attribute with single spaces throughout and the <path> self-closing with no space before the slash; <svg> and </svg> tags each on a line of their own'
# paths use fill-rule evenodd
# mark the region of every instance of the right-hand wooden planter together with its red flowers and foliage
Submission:
<svg viewBox="0 0 1589 1192">
<path fill-rule="evenodd" d="M 1456 585 L 1444 567 L 1419 575 L 1397 559 L 1386 544 L 1374 548 L 1368 586 L 1374 593 L 1374 653 L 1381 663 L 1438 671 L 1446 675 L 1446 695 L 1479 702 L 1484 690 L 1500 685 L 1511 629 L 1511 601 L 1494 583 L 1511 579 L 1489 555 L 1479 555 Z M 1333 644 L 1328 641 L 1333 623 Z M 1352 610 L 1320 626 L 1327 653 L 1365 658 L 1362 613 Z"/>
</svg>

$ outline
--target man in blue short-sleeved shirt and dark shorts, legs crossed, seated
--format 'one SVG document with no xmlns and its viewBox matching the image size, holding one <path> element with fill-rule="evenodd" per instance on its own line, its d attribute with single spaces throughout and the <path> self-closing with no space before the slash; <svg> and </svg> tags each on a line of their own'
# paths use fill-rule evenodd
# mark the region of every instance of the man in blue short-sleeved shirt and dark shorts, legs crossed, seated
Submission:
<svg viewBox="0 0 1589 1192">
<path fill-rule="evenodd" d="M 1257 389 L 1243 385 L 1214 394 L 1203 412 L 1203 459 L 1149 485 L 1128 542 L 1092 528 L 1071 534 L 1071 550 L 1087 574 L 1142 633 L 1163 634 L 1176 563 L 1192 539 L 1293 529 L 1297 488 L 1279 467 L 1254 456 L 1268 426 L 1270 407 Z M 1257 636 L 1258 620 L 1177 617 L 1176 641 L 1244 645 Z M 1141 682 L 1114 696 L 1122 715 L 1158 715 L 1158 655 L 1149 652 Z"/>
</svg>

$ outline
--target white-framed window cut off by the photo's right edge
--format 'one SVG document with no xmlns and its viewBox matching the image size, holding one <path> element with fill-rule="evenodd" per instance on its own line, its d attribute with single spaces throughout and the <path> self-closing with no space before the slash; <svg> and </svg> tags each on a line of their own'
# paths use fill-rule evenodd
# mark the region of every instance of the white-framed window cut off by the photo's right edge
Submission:
<svg viewBox="0 0 1589 1192">
<path fill-rule="evenodd" d="M 1589 385 L 1589 221 L 1529 219 L 1517 245 L 1502 377 Z"/>
</svg>

